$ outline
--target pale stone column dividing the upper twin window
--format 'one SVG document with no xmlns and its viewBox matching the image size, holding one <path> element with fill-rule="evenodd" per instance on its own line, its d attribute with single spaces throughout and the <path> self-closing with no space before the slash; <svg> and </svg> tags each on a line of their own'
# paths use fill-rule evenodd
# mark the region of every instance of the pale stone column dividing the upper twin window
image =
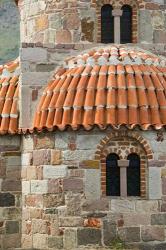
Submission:
<svg viewBox="0 0 166 250">
<path fill-rule="evenodd" d="M 120 43 L 120 17 L 123 11 L 120 9 L 114 9 L 112 15 L 114 16 L 114 43 Z"/>
</svg>

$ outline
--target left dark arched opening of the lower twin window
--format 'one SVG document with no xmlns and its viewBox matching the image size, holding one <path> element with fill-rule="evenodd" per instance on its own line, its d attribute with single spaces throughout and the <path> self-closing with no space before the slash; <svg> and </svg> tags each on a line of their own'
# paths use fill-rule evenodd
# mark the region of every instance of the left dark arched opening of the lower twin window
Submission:
<svg viewBox="0 0 166 250">
<path fill-rule="evenodd" d="M 120 168 L 118 167 L 119 157 L 110 154 L 106 159 L 106 195 L 120 196 Z"/>
</svg>

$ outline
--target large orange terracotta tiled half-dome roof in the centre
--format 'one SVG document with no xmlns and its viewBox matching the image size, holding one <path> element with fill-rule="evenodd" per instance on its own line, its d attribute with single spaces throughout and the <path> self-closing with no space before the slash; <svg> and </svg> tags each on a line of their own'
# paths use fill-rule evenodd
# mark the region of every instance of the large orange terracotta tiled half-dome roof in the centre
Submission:
<svg viewBox="0 0 166 250">
<path fill-rule="evenodd" d="M 46 87 L 34 119 L 38 131 L 121 125 L 166 125 L 164 59 L 116 46 L 73 57 Z"/>
</svg>

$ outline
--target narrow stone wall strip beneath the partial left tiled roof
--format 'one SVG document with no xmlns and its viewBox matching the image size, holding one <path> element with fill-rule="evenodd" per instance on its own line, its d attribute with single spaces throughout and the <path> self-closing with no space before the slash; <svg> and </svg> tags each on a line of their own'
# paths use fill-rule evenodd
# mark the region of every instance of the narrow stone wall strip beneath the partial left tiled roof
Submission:
<svg viewBox="0 0 166 250">
<path fill-rule="evenodd" d="M 20 138 L 0 138 L 0 249 L 21 246 Z"/>
</svg>

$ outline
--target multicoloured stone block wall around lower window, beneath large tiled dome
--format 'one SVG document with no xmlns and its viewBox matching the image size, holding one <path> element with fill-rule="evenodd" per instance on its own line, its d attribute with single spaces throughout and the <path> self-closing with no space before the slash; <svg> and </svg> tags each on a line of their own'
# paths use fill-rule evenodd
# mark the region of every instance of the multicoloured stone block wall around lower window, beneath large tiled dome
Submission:
<svg viewBox="0 0 166 250">
<path fill-rule="evenodd" d="M 166 134 L 129 132 L 134 138 L 135 133 L 144 136 L 153 151 L 147 196 L 111 199 L 101 195 L 101 165 L 95 160 L 97 145 L 110 133 L 57 131 L 24 137 L 23 249 L 95 249 L 112 241 L 132 249 L 166 248 Z"/>
</svg>

